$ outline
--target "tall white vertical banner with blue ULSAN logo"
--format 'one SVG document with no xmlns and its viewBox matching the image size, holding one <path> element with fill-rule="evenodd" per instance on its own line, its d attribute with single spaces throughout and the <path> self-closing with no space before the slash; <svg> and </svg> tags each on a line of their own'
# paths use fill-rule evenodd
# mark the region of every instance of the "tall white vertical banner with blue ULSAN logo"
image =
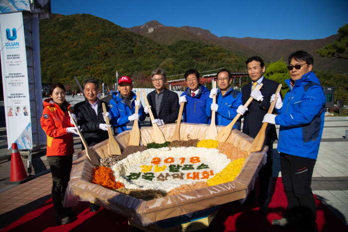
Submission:
<svg viewBox="0 0 348 232">
<path fill-rule="evenodd" d="M 0 48 L 7 146 L 32 149 L 22 12 L 0 14 Z"/>
</svg>

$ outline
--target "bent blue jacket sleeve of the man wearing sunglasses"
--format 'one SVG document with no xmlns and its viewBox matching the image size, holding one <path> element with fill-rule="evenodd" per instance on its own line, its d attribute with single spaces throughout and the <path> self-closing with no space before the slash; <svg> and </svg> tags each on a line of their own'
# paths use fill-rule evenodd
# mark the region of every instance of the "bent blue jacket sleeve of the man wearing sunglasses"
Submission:
<svg viewBox="0 0 348 232">
<path fill-rule="evenodd" d="M 301 126 L 310 123 L 325 104 L 325 94 L 322 87 L 317 85 L 309 89 L 302 98 L 298 110 L 293 110 L 290 103 L 283 106 L 282 110 L 290 110 L 289 114 L 281 114 L 275 117 L 275 124 L 280 126 Z M 287 107 L 287 109 L 283 109 Z M 290 108 L 290 109 L 289 109 Z"/>
</svg>

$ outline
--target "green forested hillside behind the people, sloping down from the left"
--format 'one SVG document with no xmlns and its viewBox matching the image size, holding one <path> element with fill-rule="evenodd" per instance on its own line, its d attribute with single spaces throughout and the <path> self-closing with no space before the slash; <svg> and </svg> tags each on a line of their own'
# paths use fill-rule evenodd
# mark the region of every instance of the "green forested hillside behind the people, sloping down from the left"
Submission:
<svg viewBox="0 0 348 232">
<path fill-rule="evenodd" d="M 53 14 L 41 19 L 40 48 L 45 83 L 69 84 L 74 76 L 93 76 L 113 84 L 117 70 L 121 76 L 133 77 L 136 87 L 146 87 L 156 68 L 165 69 L 168 76 L 189 68 L 240 70 L 246 60 L 222 47 L 194 41 L 161 45 L 90 14 Z"/>
</svg>

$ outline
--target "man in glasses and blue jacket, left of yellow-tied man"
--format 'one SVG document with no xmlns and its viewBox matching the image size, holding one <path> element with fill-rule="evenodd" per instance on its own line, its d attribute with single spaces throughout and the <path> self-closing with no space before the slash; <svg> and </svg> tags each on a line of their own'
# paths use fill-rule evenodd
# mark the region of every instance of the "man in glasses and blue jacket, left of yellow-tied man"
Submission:
<svg viewBox="0 0 348 232">
<path fill-rule="evenodd" d="M 217 81 L 219 89 L 211 89 L 206 113 L 211 117 L 211 110 L 215 110 L 215 124 L 227 126 L 236 117 L 237 109 L 242 105 L 242 93 L 231 87 L 232 76 L 230 71 L 226 69 L 217 73 Z M 213 103 L 214 94 L 216 94 L 216 103 Z M 233 127 L 241 130 L 241 121 L 237 121 Z"/>
</svg>

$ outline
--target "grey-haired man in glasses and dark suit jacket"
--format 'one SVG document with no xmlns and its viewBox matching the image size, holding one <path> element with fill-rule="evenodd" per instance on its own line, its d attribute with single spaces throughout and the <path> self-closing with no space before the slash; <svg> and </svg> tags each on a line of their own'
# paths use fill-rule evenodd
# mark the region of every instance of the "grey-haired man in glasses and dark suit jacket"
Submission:
<svg viewBox="0 0 348 232">
<path fill-rule="evenodd" d="M 155 118 L 152 123 L 157 123 L 158 126 L 174 123 L 179 114 L 179 97 L 175 92 L 165 87 L 166 71 L 163 69 L 154 70 L 151 74 L 151 79 L 156 88 L 147 95 L 150 110 Z M 147 106 L 145 106 L 144 111 L 146 116 L 149 116 L 149 108 Z"/>
</svg>

